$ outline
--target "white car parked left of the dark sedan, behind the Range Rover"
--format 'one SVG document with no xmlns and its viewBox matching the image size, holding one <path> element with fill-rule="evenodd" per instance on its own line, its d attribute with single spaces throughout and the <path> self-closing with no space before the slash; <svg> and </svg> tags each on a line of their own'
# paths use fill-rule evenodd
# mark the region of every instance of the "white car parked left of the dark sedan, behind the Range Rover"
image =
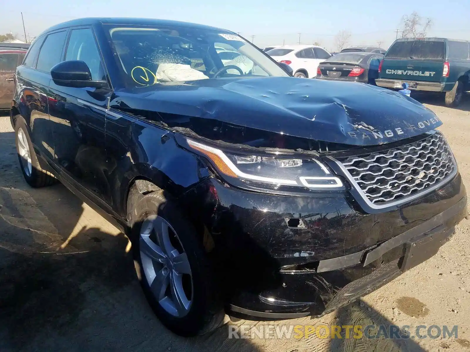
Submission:
<svg viewBox="0 0 470 352">
<path fill-rule="evenodd" d="M 318 64 L 331 57 L 324 48 L 314 45 L 278 46 L 266 54 L 277 62 L 288 64 L 294 72 L 294 77 L 303 78 L 316 77 Z"/>
</svg>

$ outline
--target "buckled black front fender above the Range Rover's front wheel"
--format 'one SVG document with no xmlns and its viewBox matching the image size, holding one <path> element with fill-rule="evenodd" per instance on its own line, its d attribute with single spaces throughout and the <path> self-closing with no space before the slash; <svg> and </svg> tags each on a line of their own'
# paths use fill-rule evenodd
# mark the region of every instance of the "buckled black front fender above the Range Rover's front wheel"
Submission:
<svg viewBox="0 0 470 352">
<path fill-rule="evenodd" d="M 119 133 L 113 133 L 119 131 Z M 135 180 L 143 179 L 179 198 L 209 177 L 200 158 L 181 148 L 174 133 L 159 126 L 137 121 L 127 126 L 107 124 L 107 151 L 113 203 L 125 217 L 127 194 Z"/>
</svg>

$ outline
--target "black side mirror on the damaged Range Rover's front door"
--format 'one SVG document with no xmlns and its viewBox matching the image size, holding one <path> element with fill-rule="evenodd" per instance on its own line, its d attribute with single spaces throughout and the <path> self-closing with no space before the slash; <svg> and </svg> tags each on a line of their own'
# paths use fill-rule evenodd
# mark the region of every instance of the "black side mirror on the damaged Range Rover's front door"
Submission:
<svg viewBox="0 0 470 352">
<path fill-rule="evenodd" d="M 85 62 L 80 60 L 62 61 L 51 69 L 52 80 L 63 87 L 102 88 L 106 81 L 92 81 L 91 72 Z"/>
</svg>

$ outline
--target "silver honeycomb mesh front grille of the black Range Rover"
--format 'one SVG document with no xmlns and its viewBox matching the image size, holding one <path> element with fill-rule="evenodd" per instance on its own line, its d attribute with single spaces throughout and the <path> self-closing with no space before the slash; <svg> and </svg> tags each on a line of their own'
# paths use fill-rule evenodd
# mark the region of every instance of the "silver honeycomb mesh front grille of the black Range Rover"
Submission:
<svg viewBox="0 0 470 352">
<path fill-rule="evenodd" d="M 341 162 L 374 204 L 409 197 L 439 183 L 456 168 L 449 145 L 440 132 L 418 142 L 352 156 Z"/>
</svg>

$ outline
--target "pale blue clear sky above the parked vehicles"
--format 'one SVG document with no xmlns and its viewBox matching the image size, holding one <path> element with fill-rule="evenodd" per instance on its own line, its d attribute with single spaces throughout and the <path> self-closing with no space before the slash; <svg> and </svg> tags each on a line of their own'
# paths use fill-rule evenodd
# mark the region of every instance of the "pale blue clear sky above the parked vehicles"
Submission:
<svg viewBox="0 0 470 352">
<path fill-rule="evenodd" d="M 470 0 L 1 0 L 0 34 L 34 37 L 47 27 L 79 17 L 151 17 L 222 27 L 260 47 L 319 42 L 334 50 L 338 31 L 352 33 L 349 44 L 381 45 L 395 39 L 403 15 L 431 17 L 428 36 L 470 39 Z"/>
</svg>

